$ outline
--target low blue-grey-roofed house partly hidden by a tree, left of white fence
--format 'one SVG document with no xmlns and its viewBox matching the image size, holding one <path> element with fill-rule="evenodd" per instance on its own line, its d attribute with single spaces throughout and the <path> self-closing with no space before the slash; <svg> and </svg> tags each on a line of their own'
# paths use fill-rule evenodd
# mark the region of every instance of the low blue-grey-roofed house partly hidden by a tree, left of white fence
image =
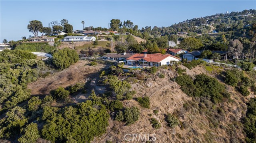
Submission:
<svg viewBox="0 0 256 143">
<path fill-rule="evenodd" d="M 192 52 L 188 52 L 182 55 L 183 59 L 188 59 L 188 61 L 192 61 L 195 58 L 199 58 L 201 55 L 202 51 L 192 51 Z M 225 55 L 226 55 L 226 51 L 212 51 L 212 53 L 219 53 L 221 59 L 225 59 Z"/>
</svg>

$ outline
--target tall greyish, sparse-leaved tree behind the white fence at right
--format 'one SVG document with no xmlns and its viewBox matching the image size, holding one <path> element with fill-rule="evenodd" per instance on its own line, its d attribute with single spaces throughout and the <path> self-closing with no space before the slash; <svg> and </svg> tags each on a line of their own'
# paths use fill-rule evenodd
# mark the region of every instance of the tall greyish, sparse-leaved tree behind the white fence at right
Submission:
<svg viewBox="0 0 256 143">
<path fill-rule="evenodd" d="M 230 41 L 228 51 L 235 56 L 235 59 L 237 59 L 237 57 L 242 53 L 242 50 L 243 44 L 238 39 Z"/>
</svg>

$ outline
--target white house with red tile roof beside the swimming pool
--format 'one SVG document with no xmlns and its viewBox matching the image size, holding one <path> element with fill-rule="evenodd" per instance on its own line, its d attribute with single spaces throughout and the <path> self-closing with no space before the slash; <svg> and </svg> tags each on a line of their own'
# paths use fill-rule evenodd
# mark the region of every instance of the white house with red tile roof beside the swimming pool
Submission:
<svg viewBox="0 0 256 143">
<path fill-rule="evenodd" d="M 127 65 L 142 65 L 150 67 L 169 65 L 172 61 L 180 61 L 180 58 L 169 54 L 134 54 L 126 59 Z"/>
</svg>

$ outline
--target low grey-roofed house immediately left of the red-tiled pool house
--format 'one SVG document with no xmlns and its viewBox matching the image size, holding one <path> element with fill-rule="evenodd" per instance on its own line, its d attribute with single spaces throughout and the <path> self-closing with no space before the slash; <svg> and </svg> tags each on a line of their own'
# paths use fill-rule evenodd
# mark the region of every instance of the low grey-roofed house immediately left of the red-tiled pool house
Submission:
<svg viewBox="0 0 256 143">
<path fill-rule="evenodd" d="M 112 61 L 126 61 L 126 59 L 131 57 L 132 55 L 134 55 L 134 54 L 132 54 L 132 53 L 122 53 L 122 54 L 108 53 L 106 55 L 103 55 L 102 58 L 112 60 Z"/>
</svg>

